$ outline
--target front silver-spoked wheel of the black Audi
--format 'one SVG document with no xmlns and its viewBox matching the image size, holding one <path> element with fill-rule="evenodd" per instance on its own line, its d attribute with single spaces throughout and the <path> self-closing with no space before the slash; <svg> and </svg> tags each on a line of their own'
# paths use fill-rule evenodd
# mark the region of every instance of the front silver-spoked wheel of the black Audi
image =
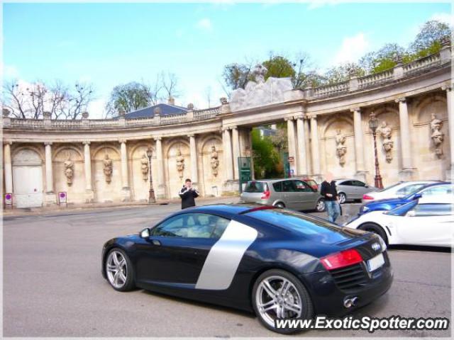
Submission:
<svg viewBox="0 0 454 340">
<path fill-rule="evenodd" d="M 112 288 L 125 292 L 135 287 L 133 265 L 122 249 L 111 249 L 106 257 L 105 266 L 106 277 Z"/>
</svg>

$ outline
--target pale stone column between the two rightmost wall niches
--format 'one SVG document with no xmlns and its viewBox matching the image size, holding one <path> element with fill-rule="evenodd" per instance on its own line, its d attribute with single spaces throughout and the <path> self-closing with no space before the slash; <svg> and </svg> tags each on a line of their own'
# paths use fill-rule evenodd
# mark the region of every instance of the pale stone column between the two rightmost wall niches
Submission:
<svg viewBox="0 0 454 340">
<path fill-rule="evenodd" d="M 399 125 L 400 140 L 402 149 L 402 171 L 400 171 L 401 180 L 409 181 L 412 179 L 414 169 L 411 164 L 411 140 L 410 140 L 410 123 L 409 111 L 406 105 L 406 98 L 396 99 L 399 103 Z"/>
</svg>

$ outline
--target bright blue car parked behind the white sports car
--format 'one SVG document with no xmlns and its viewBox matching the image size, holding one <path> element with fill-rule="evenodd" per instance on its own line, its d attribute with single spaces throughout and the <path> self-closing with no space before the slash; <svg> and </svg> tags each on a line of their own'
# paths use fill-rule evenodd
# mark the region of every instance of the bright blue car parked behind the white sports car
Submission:
<svg viewBox="0 0 454 340">
<path fill-rule="evenodd" d="M 363 204 L 358 215 L 363 215 L 367 212 L 377 210 L 392 210 L 399 205 L 409 203 L 412 200 L 417 200 L 423 196 L 452 194 L 452 187 L 452 183 L 450 182 L 428 183 L 422 188 L 419 188 L 417 191 L 409 193 L 403 197 L 389 198 L 387 200 L 375 200 L 370 203 Z"/>
</svg>

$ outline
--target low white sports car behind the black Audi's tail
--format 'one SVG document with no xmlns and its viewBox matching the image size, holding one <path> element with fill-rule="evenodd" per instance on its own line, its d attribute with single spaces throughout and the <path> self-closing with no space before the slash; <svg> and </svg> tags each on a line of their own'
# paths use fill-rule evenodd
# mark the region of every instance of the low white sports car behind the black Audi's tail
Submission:
<svg viewBox="0 0 454 340">
<path fill-rule="evenodd" d="M 344 226 L 379 234 L 387 244 L 453 246 L 452 194 L 419 198 L 389 211 L 360 215 Z"/>
</svg>

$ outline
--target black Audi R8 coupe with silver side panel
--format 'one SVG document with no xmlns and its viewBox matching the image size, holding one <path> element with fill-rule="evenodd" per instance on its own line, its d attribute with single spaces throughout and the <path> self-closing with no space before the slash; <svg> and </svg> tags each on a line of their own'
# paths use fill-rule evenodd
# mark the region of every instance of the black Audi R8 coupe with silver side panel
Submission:
<svg viewBox="0 0 454 340">
<path fill-rule="evenodd" d="M 135 287 L 277 318 L 340 316 L 387 292 L 392 268 L 377 234 L 293 210 L 206 205 L 104 244 L 102 274 Z"/>
</svg>

